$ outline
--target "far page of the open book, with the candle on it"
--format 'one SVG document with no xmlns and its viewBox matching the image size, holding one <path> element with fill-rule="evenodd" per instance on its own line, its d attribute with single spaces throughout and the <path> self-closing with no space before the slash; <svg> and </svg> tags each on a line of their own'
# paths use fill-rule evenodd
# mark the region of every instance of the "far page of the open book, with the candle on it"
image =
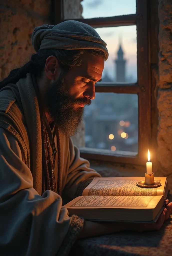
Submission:
<svg viewBox="0 0 172 256">
<path fill-rule="evenodd" d="M 165 177 L 155 178 L 162 183 L 158 188 L 141 188 L 136 182 L 144 177 L 94 178 L 82 193 L 83 196 L 157 196 L 164 195 Z"/>
</svg>

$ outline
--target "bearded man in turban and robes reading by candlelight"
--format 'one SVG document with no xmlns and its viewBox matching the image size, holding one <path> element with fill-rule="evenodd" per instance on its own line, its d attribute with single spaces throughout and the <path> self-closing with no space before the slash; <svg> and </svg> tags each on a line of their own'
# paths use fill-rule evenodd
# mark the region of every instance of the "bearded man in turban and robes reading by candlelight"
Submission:
<svg viewBox="0 0 172 256">
<path fill-rule="evenodd" d="M 95 98 L 108 51 L 92 27 L 77 21 L 36 27 L 32 45 L 37 53 L 0 83 L 0 251 L 67 255 L 77 238 L 137 230 L 69 217 L 62 206 L 100 177 L 71 136 Z M 167 208 L 155 225 L 139 229 L 160 228 Z"/>
</svg>

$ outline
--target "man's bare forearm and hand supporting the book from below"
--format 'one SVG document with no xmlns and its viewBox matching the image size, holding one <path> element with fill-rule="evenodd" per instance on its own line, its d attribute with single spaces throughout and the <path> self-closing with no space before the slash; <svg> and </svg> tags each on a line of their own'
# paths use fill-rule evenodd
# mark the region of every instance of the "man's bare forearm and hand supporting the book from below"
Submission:
<svg viewBox="0 0 172 256">
<path fill-rule="evenodd" d="M 166 200 L 167 204 L 169 200 Z M 94 222 L 84 221 L 84 227 L 79 238 L 95 237 L 103 234 L 110 234 L 120 231 L 150 231 L 159 230 L 164 221 L 167 220 L 172 212 L 172 202 L 168 204 L 156 223 L 130 223 L 130 222 Z M 138 228 L 139 227 L 139 228 Z"/>
</svg>

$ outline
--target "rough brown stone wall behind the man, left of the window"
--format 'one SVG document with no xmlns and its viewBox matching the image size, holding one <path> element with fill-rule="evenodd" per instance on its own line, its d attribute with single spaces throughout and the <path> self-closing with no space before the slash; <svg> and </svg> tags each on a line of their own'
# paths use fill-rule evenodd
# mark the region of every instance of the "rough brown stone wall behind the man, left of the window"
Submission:
<svg viewBox="0 0 172 256">
<path fill-rule="evenodd" d="M 49 22 L 51 0 L 1 0 L 0 80 L 34 52 L 31 34 Z"/>
</svg>

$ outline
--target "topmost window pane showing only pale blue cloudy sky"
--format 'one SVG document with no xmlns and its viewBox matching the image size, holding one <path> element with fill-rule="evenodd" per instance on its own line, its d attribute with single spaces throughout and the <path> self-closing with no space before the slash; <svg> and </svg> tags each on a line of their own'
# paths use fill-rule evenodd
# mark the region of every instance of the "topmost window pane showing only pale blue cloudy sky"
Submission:
<svg viewBox="0 0 172 256">
<path fill-rule="evenodd" d="M 136 13 L 136 0 L 83 0 L 82 17 L 112 17 Z"/>
</svg>

